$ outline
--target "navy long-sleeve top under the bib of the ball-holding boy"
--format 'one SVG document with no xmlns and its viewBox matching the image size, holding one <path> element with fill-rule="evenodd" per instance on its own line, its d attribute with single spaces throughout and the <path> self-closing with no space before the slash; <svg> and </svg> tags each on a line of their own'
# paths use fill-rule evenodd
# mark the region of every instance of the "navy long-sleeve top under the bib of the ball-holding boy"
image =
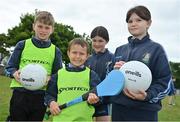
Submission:
<svg viewBox="0 0 180 122">
<path fill-rule="evenodd" d="M 48 41 L 40 41 L 36 39 L 35 37 L 32 37 L 32 43 L 38 47 L 38 48 L 47 48 L 51 46 L 51 40 Z M 15 49 L 12 53 L 12 55 L 9 58 L 8 64 L 6 66 L 6 75 L 13 78 L 13 74 L 15 71 L 19 69 L 19 64 L 20 64 L 20 59 L 21 59 L 21 54 L 22 51 L 25 47 L 25 40 L 19 41 Z M 35 55 L 35 53 L 34 53 Z M 55 74 L 58 69 L 62 68 L 62 56 L 61 56 L 61 51 L 59 48 L 56 47 L 55 51 L 55 58 L 52 66 L 52 74 Z M 15 88 L 16 90 L 20 91 L 28 91 L 24 88 Z"/>
</svg>

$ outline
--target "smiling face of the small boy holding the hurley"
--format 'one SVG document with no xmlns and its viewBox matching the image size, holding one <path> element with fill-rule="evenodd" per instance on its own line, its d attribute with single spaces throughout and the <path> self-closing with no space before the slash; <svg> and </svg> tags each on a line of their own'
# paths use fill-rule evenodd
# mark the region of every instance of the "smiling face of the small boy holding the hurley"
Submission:
<svg viewBox="0 0 180 122">
<path fill-rule="evenodd" d="M 88 58 L 87 47 L 81 47 L 81 45 L 78 44 L 72 45 L 67 54 L 71 64 L 76 67 L 84 65 Z"/>
</svg>

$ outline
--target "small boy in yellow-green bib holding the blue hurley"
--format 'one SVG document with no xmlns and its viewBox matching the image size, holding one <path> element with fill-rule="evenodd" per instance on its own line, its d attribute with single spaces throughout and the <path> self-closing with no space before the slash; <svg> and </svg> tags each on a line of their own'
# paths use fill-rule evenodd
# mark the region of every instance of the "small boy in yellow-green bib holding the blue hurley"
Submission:
<svg viewBox="0 0 180 122">
<path fill-rule="evenodd" d="M 89 104 L 99 101 L 93 93 L 89 94 L 89 104 L 84 101 L 62 111 L 58 107 L 81 96 L 100 82 L 98 75 L 84 65 L 88 53 L 86 41 L 81 38 L 70 41 L 67 51 L 70 63 L 51 78 L 45 96 L 45 103 L 55 115 L 53 121 L 92 121 L 94 107 Z"/>
</svg>

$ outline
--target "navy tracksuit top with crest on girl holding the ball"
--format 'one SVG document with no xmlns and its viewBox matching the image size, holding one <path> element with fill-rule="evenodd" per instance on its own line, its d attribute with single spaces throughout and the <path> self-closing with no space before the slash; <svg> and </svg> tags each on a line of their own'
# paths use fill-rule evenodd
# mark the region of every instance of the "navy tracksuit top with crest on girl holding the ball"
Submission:
<svg viewBox="0 0 180 122">
<path fill-rule="evenodd" d="M 127 44 L 116 49 L 115 58 L 116 61 L 137 60 L 145 63 L 152 72 L 152 83 L 144 101 L 132 100 L 120 93 L 113 97 L 112 102 L 139 109 L 160 110 L 161 99 L 168 94 L 171 81 L 169 62 L 163 47 L 152 41 L 149 35 L 142 40 L 129 37 Z"/>
</svg>

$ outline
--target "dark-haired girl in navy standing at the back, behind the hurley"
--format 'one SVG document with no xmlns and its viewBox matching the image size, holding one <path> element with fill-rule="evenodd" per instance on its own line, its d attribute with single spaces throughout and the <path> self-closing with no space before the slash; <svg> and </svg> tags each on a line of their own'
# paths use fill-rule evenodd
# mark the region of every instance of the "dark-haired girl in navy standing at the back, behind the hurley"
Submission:
<svg viewBox="0 0 180 122">
<path fill-rule="evenodd" d="M 91 39 L 93 53 L 88 58 L 86 65 L 94 70 L 99 75 L 101 81 L 103 81 L 107 73 L 112 70 L 114 62 L 114 55 L 105 48 L 109 42 L 107 29 L 103 26 L 97 26 L 91 32 Z M 102 105 L 96 106 L 96 112 L 94 114 L 96 121 L 110 121 L 108 115 L 107 104 L 103 103 Z"/>
</svg>

